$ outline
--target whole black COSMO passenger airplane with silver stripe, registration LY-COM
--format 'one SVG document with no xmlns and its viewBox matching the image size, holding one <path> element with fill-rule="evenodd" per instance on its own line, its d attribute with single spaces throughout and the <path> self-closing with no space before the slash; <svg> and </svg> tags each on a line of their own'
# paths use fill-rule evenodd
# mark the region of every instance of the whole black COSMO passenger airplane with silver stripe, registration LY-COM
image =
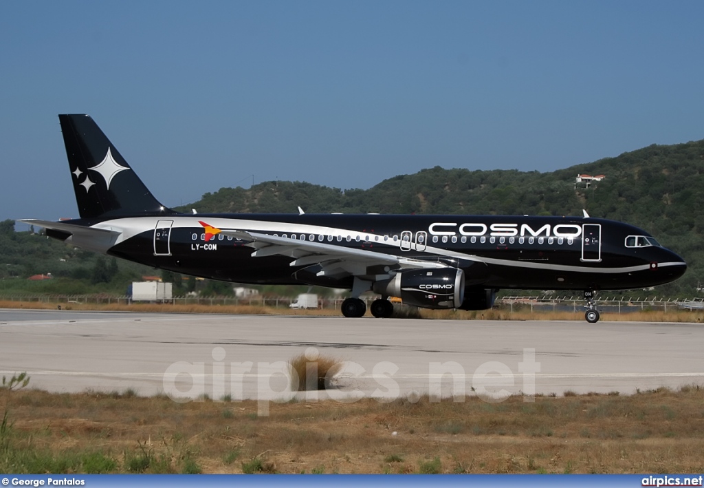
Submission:
<svg viewBox="0 0 704 488">
<path fill-rule="evenodd" d="M 46 236 L 172 272 L 253 284 L 347 288 L 345 317 L 391 317 L 389 297 L 486 310 L 500 289 L 595 293 L 669 283 L 686 271 L 640 228 L 584 216 L 196 214 L 162 205 L 85 114 L 59 115 L 79 219 L 21 221 Z M 168 168 L 165 168 L 168 171 Z"/>
</svg>

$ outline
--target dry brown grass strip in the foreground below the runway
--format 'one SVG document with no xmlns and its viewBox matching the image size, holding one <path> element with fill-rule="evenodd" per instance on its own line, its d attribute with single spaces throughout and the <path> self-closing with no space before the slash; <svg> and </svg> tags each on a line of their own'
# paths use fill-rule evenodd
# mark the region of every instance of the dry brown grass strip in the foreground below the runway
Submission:
<svg viewBox="0 0 704 488">
<path fill-rule="evenodd" d="M 0 391 L 0 396 L 4 394 Z M 16 391 L 0 472 L 696 473 L 704 389 L 502 403 L 175 403 Z M 397 432 L 393 435 L 393 432 Z"/>
</svg>

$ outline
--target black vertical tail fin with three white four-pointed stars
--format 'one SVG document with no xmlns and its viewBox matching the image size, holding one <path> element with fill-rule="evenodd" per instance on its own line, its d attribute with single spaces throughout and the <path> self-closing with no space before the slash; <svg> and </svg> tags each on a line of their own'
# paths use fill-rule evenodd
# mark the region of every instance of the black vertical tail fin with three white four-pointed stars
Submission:
<svg viewBox="0 0 704 488">
<path fill-rule="evenodd" d="M 151 195 L 90 116 L 60 115 L 58 120 L 82 219 L 174 213 Z"/>
</svg>

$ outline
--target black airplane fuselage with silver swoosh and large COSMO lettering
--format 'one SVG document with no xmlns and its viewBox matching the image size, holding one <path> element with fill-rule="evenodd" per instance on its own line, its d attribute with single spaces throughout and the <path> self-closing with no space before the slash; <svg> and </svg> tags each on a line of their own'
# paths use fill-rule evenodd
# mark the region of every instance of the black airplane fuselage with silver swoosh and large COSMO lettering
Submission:
<svg viewBox="0 0 704 488">
<path fill-rule="evenodd" d="M 246 240 L 220 234 L 206 241 L 203 226 L 197 221 L 349 249 L 445 262 L 465 271 L 467 286 L 485 288 L 644 288 L 673 281 L 686 269 L 681 257 L 658 245 L 627 247 L 628 236 L 650 235 L 629 224 L 604 219 L 180 214 L 164 216 L 162 224 L 156 224 L 155 221 L 160 220 L 157 218 L 130 220 L 143 220 L 144 229 L 113 246 L 109 254 L 175 272 L 239 283 L 305 283 L 351 288 L 349 277 L 335 281 L 306 273 L 306 266 L 289 266 L 293 257 L 252 257 L 253 249 Z M 158 233 L 163 234 L 161 240 L 155 238 Z"/>
</svg>

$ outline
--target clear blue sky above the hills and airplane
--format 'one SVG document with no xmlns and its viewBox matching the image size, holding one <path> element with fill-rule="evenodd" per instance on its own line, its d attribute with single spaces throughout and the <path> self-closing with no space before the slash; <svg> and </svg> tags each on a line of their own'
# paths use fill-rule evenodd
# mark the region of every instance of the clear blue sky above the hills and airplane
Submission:
<svg viewBox="0 0 704 488">
<path fill-rule="evenodd" d="M 0 220 L 77 216 L 63 113 L 91 114 L 171 206 L 252 178 L 370 188 L 699 140 L 703 18 L 701 1 L 2 2 Z"/>
</svg>

